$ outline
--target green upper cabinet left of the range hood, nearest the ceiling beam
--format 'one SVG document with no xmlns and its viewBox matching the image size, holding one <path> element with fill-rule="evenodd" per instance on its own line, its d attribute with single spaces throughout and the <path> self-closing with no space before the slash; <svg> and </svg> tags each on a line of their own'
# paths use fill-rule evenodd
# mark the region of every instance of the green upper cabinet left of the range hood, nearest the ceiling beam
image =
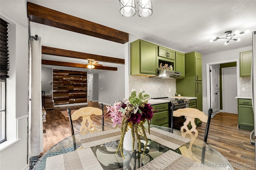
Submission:
<svg viewBox="0 0 256 170">
<path fill-rule="evenodd" d="M 130 49 L 131 75 L 157 74 L 157 45 L 138 39 L 130 44 Z"/>
</svg>

